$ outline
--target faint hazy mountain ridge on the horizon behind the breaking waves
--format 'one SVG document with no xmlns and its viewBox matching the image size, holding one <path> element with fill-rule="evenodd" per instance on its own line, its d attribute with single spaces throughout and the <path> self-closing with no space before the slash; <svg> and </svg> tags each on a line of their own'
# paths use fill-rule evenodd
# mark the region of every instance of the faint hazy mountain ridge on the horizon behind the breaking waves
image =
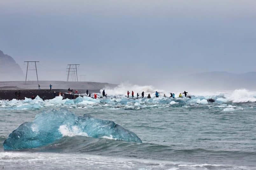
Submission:
<svg viewBox="0 0 256 170">
<path fill-rule="evenodd" d="M 243 74 L 229 72 L 204 72 L 188 76 L 176 76 L 173 81 L 155 85 L 158 88 L 171 91 L 233 91 L 248 89 L 256 91 L 256 72 Z"/>
</svg>

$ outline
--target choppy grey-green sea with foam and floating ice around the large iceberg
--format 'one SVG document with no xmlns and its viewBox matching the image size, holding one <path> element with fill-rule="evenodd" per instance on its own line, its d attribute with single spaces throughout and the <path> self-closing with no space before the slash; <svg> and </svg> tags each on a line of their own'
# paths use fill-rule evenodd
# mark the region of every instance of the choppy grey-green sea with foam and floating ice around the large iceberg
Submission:
<svg viewBox="0 0 256 170">
<path fill-rule="evenodd" d="M 43 102 L 37 97 L 35 100 L 0 101 L 0 167 L 253 170 L 256 169 L 255 96 L 254 92 L 237 90 L 212 96 L 191 95 L 191 99 L 154 98 L 152 93 L 153 98 L 138 100 L 113 94 L 102 99 L 62 100 L 57 97 Z M 215 102 L 207 102 L 209 98 Z M 66 119 L 63 121 L 69 129 L 57 127 L 62 135 L 59 139 L 35 148 L 21 146 L 7 150 L 3 147 L 13 130 L 25 122 L 33 122 L 36 115 L 49 116 L 49 110 L 58 113 L 57 116 L 67 110 L 78 117 L 90 114 L 93 121 L 114 121 L 135 133 L 142 143 L 127 142 L 125 138 L 117 140 L 112 135 L 106 136 L 107 133 L 92 137 L 88 129 L 81 128 L 83 122 L 76 121 L 76 117 L 76 129 L 70 125 L 71 118 L 61 117 Z M 44 118 L 43 124 L 38 126 L 52 127 L 55 121 L 51 120 L 60 119 L 56 114 Z M 105 125 L 95 123 L 94 128 L 99 126 Z M 46 136 L 52 136 L 54 130 L 47 129 Z M 40 130 L 37 133 L 40 137 L 45 135 Z M 37 139 L 22 140 L 27 141 L 18 142 Z"/>
</svg>

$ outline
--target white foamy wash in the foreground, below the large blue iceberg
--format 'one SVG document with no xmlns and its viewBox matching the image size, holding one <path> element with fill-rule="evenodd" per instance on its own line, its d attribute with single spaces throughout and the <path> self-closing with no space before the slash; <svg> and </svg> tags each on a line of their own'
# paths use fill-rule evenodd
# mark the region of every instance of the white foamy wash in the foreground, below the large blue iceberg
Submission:
<svg viewBox="0 0 256 170">
<path fill-rule="evenodd" d="M 102 156 L 90 154 L 70 154 L 54 152 L 0 152 L 1 166 L 40 167 L 41 169 L 236 169 L 253 170 L 255 166 L 236 166 L 225 164 L 206 164 L 190 162 L 162 161 L 155 159 L 136 159 L 130 157 Z M 72 159 L 71 159 L 72 158 Z M 42 166 L 44 162 L 44 166 Z M 85 168 L 86 162 L 86 168 Z M 102 168 L 104 167 L 104 168 Z"/>
</svg>

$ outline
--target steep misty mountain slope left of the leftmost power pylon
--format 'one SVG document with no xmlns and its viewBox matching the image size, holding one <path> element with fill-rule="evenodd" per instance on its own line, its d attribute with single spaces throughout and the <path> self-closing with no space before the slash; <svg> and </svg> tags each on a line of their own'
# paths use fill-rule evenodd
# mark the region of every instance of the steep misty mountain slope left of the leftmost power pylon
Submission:
<svg viewBox="0 0 256 170">
<path fill-rule="evenodd" d="M 16 61 L 0 50 L 0 81 L 21 80 L 23 77 L 24 74 Z"/>
</svg>

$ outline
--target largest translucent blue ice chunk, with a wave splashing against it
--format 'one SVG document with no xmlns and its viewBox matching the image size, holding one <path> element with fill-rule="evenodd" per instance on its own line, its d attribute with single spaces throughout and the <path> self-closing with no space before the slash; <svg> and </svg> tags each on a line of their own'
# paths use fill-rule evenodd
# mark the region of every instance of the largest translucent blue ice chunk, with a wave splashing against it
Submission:
<svg viewBox="0 0 256 170">
<path fill-rule="evenodd" d="M 4 141 L 6 150 L 36 148 L 62 138 L 84 135 L 94 138 L 107 137 L 127 142 L 142 143 L 133 132 L 113 121 L 101 120 L 88 114 L 76 116 L 67 109 L 48 110 L 36 115 L 33 122 L 25 122 Z"/>
</svg>

